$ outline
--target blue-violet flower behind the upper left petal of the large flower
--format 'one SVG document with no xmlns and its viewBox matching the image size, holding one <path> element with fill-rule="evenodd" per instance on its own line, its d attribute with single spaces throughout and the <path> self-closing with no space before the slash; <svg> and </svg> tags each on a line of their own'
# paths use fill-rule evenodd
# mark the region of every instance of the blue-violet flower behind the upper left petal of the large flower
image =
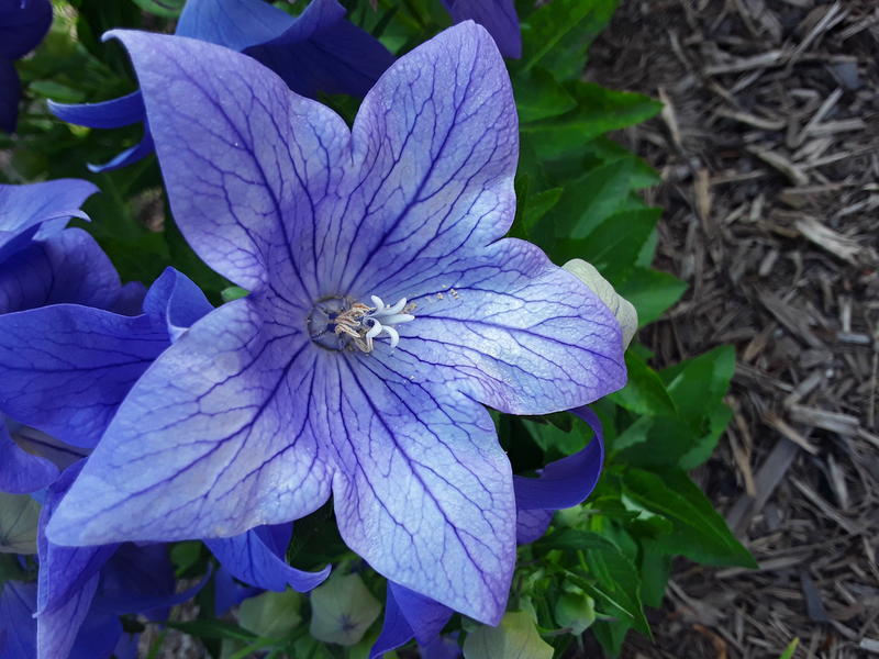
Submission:
<svg viewBox="0 0 879 659">
<path fill-rule="evenodd" d="M 345 20 L 336 0 L 312 0 L 298 18 L 263 0 L 188 0 L 176 34 L 240 51 L 278 74 L 307 97 L 319 91 L 364 96 L 393 56 L 378 40 Z M 92 129 L 116 129 L 144 120 L 141 92 L 88 104 L 49 102 L 59 119 Z M 125 167 L 153 153 L 144 138 L 93 171 Z"/>
</svg>

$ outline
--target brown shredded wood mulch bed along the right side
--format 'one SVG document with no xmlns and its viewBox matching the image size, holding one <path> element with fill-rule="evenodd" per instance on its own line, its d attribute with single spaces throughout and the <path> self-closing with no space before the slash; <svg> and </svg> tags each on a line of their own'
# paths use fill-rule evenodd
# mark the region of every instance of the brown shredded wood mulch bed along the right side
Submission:
<svg viewBox="0 0 879 659">
<path fill-rule="evenodd" d="M 654 366 L 733 344 L 698 481 L 760 569 L 681 561 L 626 658 L 879 657 L 879 4 L 622 0 L 588 76 L 666 103 L 617 137 L 663 175 L 690 284 Z"/>
</svg>

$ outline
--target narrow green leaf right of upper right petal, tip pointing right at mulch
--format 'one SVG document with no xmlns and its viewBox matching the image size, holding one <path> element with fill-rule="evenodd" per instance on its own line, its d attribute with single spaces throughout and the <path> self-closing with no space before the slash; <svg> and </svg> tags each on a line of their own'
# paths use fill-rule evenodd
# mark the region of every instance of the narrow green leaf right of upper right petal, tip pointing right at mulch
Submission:
<svg viewBox="0 0 879 659">
<path fill-rule="evenodd" d="M 555 1 L 547 7 L 554 4 Z M 566 89 L 577 101 L 575 110 L 520 129 L 522 137 L 534 145 L 542 158 L 580 152 L 591 139 L 646 121 L 661 109 L 649 97 L 604 89 L 594 82 L 578 80 L 567 83 Z"/>
</svg>

